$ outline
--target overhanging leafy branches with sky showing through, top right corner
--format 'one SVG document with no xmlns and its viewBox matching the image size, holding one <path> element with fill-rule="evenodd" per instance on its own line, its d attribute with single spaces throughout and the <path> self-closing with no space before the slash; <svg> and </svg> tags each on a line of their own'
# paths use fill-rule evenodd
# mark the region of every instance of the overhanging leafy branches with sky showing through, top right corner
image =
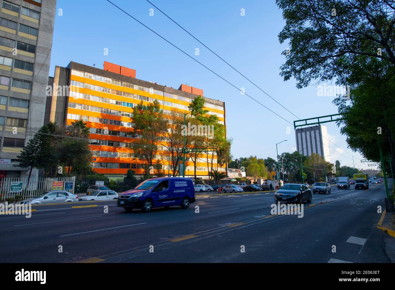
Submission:
<svg viewBox="0 0 395 290">
<path fill-rule="evenodd" d="M 276 0 L 276 4 L 286 21 L 278 39 L 290 42 L 290 50 L 282 52 L 286 63 L 280 75 L 284 80 L 294 77 L 297 88 L 311 80 L 341 81 L 352 73 L 345 58 L 395 64 L 393 0 Z"/>
</svg>

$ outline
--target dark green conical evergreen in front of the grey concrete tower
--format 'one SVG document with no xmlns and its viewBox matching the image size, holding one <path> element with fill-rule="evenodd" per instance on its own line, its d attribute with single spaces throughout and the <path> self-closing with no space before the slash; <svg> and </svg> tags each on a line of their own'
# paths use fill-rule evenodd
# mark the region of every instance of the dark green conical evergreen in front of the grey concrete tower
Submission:
<svg viewBox="0 0 395 290">
<path fill-rule="evenodd" d="M 21 154 L 17 156 L 20 160 L 20 167 L 30 167 L 26 188 L 29 186 L 33 168 L 42 168 L 43 165 L 46 164 L 47 159 L 51 158 L 51 137 L 48 134 L 48 127 L 45 125 L 42 126 L 37 133 L 34 134 L 33 138 L 28 141 L 26 146 L 23 147 Z"/>
</svg>

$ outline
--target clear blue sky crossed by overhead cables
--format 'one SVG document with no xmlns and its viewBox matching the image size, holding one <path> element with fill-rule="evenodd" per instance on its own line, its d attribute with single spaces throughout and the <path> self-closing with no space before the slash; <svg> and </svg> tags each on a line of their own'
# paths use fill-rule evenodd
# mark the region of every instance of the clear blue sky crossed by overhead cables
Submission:
<svg viewBox="0 0 395 290">
<path fill-rule="evenodd" d="M 296 118 L 258 88 L 233 71 L 195 39 L 171 22 L 146 0 L 111 0 L 152 30 L 177 45 L 190 56 L 234 84 L 266 107 L 293 123 Z M 317 96 L 317 88 L 298 90 L 295 80 L 284 82 L 279 76 L 285 61 L 281 52 L 287 43 L 278 42 L 284 26 L 282 13 L 274 0 L 176 1 L 150 0 L 192 35 L 205 43 L 229 64 L 250 78 L 265 92 L 299 118 L 336 114 L 333 97 Z M 78 5 L 76 5 L 78 3 Z M 150 16 L 150 9 L 154 15 Z M 278 152 L 295 151 L 293 127 L 246 95 L 194 62 L 147 28 L 105 0 L 58 0 L 53 38 L 50 75 L 55 65 L 66 66 L 71 60 L 103 68 L 103 61 L 135 69 L 138 79 L 173 88 L 181 83 L 204 90 L 204 96 L 225 101 L 228 137 L 233 138 L 234 158 L 256 155 L 266 158 Z M 241 16 L 245 9 L 245 16 Z M 103 54 L 107 48 L 109 55 Z M 199 55 L 195 49 L 199 48 Z M 327 123 L 331 162 L 368 168 L 358 153 L 347 148 L 346 137 L 335 123 Z M 291 127 L 291 134 L 286 134 Z M 343 151 L 345 150 L 345 151 Z M 347 153 L 348 152 L 348 153 Z M 341 155 L 340 153 L 344 154 Z M 356 157 L 356 158 L 355 158 Z M 372 167 L 369 167 L 372 168 Z"/>
</svg>

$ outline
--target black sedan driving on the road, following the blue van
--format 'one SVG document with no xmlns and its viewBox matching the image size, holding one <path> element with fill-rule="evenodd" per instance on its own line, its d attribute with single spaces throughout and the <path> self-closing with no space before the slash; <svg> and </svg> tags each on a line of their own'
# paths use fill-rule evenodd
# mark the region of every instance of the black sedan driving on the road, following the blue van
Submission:
<svg viewBox="0 0 395 290">
<path fill-rule="evenodd" d="M 297 202 L 302 204 L 304 201 L 311 202 L 311 189 L 304 184 L 287 183 L 274 194 L 275 202 Z"/>
</svg>

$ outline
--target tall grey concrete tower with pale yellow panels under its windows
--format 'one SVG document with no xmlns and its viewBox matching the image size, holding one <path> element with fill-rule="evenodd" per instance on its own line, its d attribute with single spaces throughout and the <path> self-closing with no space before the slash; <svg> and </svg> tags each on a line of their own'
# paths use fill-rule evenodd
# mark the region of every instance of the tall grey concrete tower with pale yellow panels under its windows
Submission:
<svg viewBox="0 0 395 290">
<path fill-rule="evenodd" d="M 0 177 L 23 177 L 17 156 L 44 122 L 56 0 L 0 3 Z"/>
</svg>

